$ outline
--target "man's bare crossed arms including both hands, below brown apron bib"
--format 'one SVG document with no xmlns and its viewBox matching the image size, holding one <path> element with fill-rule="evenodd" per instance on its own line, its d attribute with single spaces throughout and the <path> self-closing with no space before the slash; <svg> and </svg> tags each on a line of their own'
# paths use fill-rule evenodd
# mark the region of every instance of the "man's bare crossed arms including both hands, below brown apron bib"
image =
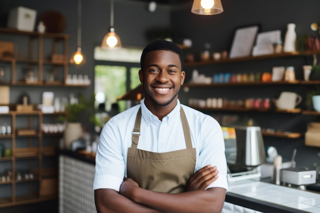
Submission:
<svg viewBox="0 0 320 213">
<path fill-rule="evenodd" d="M 120 192 L 100 188 L 95 190 L 98 213 L 215 213 L 221 212 L 225 189 L 208 188 L 218 178 L 216 167 L 207 165 L 189 180 L 183 193 L 169 194 L 145 190 L 132 179 L 121 184 Z"/>
</svg>

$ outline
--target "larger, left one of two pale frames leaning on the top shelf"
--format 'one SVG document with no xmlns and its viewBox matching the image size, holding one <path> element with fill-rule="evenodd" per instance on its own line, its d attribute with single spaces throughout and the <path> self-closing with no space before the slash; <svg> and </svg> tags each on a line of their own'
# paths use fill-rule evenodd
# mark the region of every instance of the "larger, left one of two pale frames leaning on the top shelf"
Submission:
<svg viewBox="0 0 320 213">
<path fill-rule="evenodd" d="M 229 58 L 250 56 L 259 31 L 259 24 L 236 28 Z"/>
</svg>

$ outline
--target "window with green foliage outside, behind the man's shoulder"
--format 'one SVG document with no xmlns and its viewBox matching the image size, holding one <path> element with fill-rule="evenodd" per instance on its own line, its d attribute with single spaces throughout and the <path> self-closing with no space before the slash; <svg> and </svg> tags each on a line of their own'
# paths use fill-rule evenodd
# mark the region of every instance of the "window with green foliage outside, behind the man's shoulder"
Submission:
<svg viewBox="0 0 320 213">
<path fill-rule="evenodd" d="M 139 69 L 142 49 L 121 48 L 102 50 L 95 48 L 95 93 L 102 92 L 103 103 L 96 103 L 96 108 L 110 111 L 117 103 L 119 111 L 127 108 L 126 101 L 117 101 L 127 91 L 140 85 Z"/>
</svg>

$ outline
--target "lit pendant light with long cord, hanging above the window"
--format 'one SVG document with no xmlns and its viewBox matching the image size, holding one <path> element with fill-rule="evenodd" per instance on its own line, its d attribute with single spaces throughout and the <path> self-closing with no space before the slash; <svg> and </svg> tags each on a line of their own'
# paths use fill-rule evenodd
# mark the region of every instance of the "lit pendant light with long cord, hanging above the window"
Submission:
<svg viewBox="0 0 320 213">
<path fill-rule="evenodd" d="M 113 0 L 110 0 L 110 28 L 109 33 L 102 40 L 101 48 L 121 48 L 121 46 L 121 40 L 113 28 Z"/>
</svg>

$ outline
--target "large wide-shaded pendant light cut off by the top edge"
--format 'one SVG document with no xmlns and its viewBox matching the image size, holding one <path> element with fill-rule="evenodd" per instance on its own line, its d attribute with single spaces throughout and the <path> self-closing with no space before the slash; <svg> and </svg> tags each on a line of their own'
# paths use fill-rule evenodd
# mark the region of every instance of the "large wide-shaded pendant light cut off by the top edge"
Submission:
<svg viewBox="0 0 320 213">
<path fill-rule="evenodd" d="M 191 12 L 198 15 L 216 15 L 222 13 L 221 0 L 194 0 Z"/>
</svg>

